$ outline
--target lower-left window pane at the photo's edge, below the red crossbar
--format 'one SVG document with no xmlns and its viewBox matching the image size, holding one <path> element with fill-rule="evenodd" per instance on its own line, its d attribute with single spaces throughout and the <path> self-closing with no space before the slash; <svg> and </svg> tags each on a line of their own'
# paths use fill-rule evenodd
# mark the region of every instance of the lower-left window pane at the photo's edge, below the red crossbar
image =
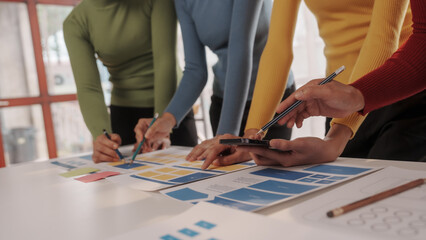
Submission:
<svg viewBox="0 0 426 240">
<path fill-rule="evenodd" d="M 1 108 L 0 123 L 6 165 L 48 159 L 40 105 Z"/>
</svg>

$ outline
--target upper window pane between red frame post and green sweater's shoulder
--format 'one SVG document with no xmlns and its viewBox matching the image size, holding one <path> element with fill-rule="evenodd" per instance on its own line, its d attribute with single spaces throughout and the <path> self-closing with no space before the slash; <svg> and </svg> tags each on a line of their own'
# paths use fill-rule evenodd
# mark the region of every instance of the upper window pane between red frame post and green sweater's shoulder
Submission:
<svg viewBox="0 0 426 240">
<path fill-rule="evenodd" d="M 62 31 L 62 23 L 72 8 L 71 6 L 37 4 L 43 61 L 51 95 L 76 92 Z"/>
</svg>

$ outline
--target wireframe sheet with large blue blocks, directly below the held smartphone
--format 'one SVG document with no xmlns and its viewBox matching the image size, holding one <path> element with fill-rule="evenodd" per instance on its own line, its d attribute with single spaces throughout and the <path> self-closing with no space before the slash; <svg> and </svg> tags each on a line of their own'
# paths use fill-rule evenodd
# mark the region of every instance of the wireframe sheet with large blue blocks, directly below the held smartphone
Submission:
<svg viewBox="0 0 426 240">
<path fill-rule="evenodd" d="M 245 211 L 256 211 L 307 193 L 370 173 L 377 168 L 322 164 L 253 167 L 161 193 L 180 201 L 207 201 Z"/>
</svg>

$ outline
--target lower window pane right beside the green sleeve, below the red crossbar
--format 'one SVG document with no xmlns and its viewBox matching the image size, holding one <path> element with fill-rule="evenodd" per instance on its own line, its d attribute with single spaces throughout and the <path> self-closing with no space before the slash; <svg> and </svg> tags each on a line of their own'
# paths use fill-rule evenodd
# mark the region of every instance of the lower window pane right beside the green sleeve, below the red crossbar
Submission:
<svg viewBox="0 0 426 240">
<path fill-rule="evenodd" d="M 58 157 L 92 151 L 92 136 L 84 124 L 77 101 L 53 103 Z"/>
</svg>

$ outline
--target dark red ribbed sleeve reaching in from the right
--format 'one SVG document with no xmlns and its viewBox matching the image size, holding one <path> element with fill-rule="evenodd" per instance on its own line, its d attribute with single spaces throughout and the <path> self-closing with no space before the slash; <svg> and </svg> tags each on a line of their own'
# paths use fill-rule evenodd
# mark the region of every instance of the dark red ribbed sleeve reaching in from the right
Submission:
<svg viewBox="0 0 426 240">
<path fill-rule="evenodd" d="M 381 67 L 350 84 L 364 96 L 366 114 L 426 89 L 426 1 L 411 0 L 413 34 Z"/>
</svg>

